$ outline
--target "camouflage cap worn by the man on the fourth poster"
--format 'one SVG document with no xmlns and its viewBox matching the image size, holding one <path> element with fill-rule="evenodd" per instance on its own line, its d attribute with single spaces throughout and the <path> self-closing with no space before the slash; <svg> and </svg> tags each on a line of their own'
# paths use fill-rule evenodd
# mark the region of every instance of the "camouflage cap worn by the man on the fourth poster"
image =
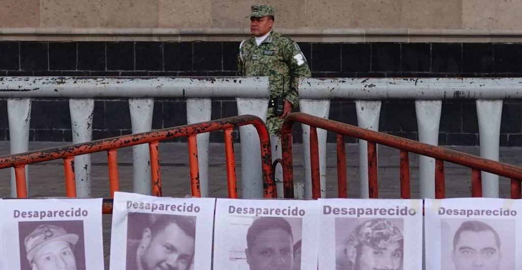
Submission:
<svg viewBox="0 0 522 270">
<path fill-rule="evenodd" d="M 348 238 L 348 244 L 353 247 L 362 244 L 374 249 L 384 249 L 403 238 L 400 230 L 392 222 L 376 218 L 357 226 Z"/>
</svg>

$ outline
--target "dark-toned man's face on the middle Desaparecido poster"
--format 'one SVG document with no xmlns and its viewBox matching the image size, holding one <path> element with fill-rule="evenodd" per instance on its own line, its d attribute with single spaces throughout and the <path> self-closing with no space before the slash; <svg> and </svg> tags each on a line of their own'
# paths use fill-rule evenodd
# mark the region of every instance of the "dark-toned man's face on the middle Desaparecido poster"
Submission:
<svg viewBox="0 0 522 270">
<path fill-rule="evenodd" d="M 292 241 L 292 236 L 282 229 L 264 230 L 258 234 L 253 246 L 245 250 L 250 270 L 291 270 Z"/>
</svg>

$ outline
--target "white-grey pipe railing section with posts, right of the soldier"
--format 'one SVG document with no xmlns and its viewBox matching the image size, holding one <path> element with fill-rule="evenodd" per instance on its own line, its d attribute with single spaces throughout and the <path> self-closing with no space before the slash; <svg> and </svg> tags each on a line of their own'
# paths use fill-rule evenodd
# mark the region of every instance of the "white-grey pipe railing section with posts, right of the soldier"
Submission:
<svg viewBox="0 0 522 270">
<path fill-rule="evenodd" d="M 438 144 L 438 132 L 443 99 L 476 100 L 480 136 L 480 155 L 499 160 L 499 137 L 502 114 L 502 100 L 522 98 L 522 79 L 520 78 L 332 78 L 303 79 L 299 84 L 301 111 L 328 118 L 330 99 L 355 100 L 358 125 L 378 130 L 381 100 L 416 100 L 419 140 L 432 145 Z M 311 106 L 311 104 L 313 104 Z M 321 108 L 321 109 L 318 109 Z M 303 125 L 303 131 L 305 130 Z M 325 147 L 326 133 L 318 133 L 319 149 Z M 307 140 L 304 149 L 309 149 Z M 367 171 L 366 148 L 361 143 L 360 172 Z M 321 168 L 326 162 L 321 157 Z M 305 164 L 310 160 L 309 152 L 304 155 Z M 433 159 L 419 159 L 420 197 L 434 198 Z M 361 197 L 367 198 L 367 174 L 360 173 Z M 305 168 L 305 190 L 311 185 L 310 168 Z M 484 197 L 499 197 L 499 176 L 482 172 Z M 326 183 L 326 172 L 321 172 L 321 187 Z M 309 196 L 309 194 L 305 194 Z M 322 188 L 322 197 L 325 192 Z M 309 196 L 310 197 L 310 196 Z"/>
</svg>

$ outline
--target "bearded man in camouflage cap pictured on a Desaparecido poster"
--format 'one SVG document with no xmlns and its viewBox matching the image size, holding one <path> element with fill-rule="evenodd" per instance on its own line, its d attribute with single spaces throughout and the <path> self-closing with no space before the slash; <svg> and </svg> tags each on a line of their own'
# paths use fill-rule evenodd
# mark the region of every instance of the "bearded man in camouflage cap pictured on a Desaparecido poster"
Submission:
<svg viewBox="0 0 522 270">
<path fill-rule="evenodd" d="M 348 238 L 345 254 L 348 265 L 337 270 L 402 269 L 404 237 L 392 222 L 383 218 L 357 226 Z M 339 262 L 339 260 L 338 260 Z"/>
</svg>

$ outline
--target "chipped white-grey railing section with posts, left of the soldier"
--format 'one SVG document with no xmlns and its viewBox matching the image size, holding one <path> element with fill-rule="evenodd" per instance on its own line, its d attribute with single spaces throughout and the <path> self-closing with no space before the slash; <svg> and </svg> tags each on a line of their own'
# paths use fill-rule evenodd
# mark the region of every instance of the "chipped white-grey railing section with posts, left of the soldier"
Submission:
<svg viewBox="0 0 522 270">
<path fill-rule="evenodd" d="M 92 138 L 94 98 L 128 98 L 133 133 L 151 130 L 153 98 L 186 98 L 187 123 L 210 120 L 211 98 L 236 98 L 238 113 L 266 119 L 268 77 L 0 77 L 0 98 L 7 98 L 11 154 L 28 151 L 31 100 L 69 98 L 73 142 Z M 262 198 L 259 138 L 254 127 L 240 128 L 242 196 Z M 201 195 L 208 196 L 208 134 L 197 135 Z M 257 149 L 257 151 L 253 150 Z M 151 193 L 147 146 L 133 148 L 133 189 Z M 90 157 L 75 157 L 78 197 L 90 197 Z M 29 176 L 29 175 L 28 175 Z M 29 179 L 29 177 L 27 177 Z M 16 197 L 11 171 L 11 196 Z"/>
</svg>

